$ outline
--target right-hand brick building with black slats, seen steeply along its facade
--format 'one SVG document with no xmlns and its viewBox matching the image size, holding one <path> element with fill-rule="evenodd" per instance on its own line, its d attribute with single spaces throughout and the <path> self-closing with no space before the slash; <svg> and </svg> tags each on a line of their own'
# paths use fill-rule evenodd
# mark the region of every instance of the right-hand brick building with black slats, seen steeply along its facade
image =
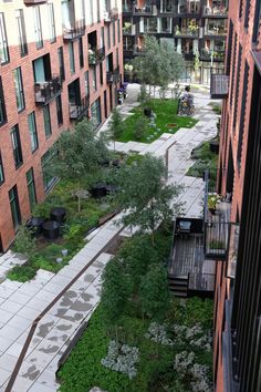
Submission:
<svg viewBox="0 0 261 392">
<path fill-rule="evenodd" d="M 213 75 L 223 99 L 217 190 L 230 218 L 226 257 L 217 262 L 215 385 L 261 391 L 261 2 L 230 0 L 226 74 Z"/>
</svg>

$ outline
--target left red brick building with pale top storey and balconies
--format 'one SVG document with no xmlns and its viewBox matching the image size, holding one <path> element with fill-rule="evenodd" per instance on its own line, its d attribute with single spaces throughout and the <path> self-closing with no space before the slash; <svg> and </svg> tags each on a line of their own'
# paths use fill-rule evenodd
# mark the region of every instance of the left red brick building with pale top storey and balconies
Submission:
<svg viewBox="0 0 261 392">
<path fill-rule="evenodd" d="M 123 74 L 121 0 L 0 2 L 0 252 L 53 185 L 49 148 L 83 116 L 98 126 Z"/>
</svg>

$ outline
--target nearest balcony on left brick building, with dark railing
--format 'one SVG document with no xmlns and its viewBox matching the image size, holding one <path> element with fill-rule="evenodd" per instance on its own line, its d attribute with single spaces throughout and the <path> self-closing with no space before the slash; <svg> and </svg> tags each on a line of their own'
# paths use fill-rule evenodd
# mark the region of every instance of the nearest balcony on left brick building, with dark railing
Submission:
<svg viewBox="0 0 261 392">
<path fill-rule="evenodd" d="M 61 76 L 53 75 L 48 82 L 34 83 L 34 96 L 36 105 L 46 105 L 62 91 Z"/>
</svg>

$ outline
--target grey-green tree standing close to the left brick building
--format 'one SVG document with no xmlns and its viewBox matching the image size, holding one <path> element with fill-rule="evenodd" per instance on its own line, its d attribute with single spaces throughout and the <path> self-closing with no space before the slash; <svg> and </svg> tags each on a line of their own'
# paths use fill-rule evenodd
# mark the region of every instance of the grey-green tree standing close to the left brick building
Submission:
<svg viewBox="0 0 261 392">
<path fill-rule="evenodd" d="M 49 173 L 75 182 L 96 168 L 109 154 L 106 136 L 97 136 L 87 120 L 77 123 L 73 131 L 63 132 L 50 152 Z"/>
</svg>

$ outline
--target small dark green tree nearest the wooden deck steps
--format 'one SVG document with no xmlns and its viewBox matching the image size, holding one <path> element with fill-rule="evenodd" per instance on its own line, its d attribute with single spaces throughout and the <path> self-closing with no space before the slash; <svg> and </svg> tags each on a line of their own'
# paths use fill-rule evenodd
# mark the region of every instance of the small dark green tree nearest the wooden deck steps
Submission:
<svg viewBox="0 0 261 392">
<path fill-rule="evenodd" d="M 153 266 L 142 278 L 140 302 L 145 314 L 160 322 L 169 309 L 170 296 L 168 289 L 167 269 Z"/>
</svg>

